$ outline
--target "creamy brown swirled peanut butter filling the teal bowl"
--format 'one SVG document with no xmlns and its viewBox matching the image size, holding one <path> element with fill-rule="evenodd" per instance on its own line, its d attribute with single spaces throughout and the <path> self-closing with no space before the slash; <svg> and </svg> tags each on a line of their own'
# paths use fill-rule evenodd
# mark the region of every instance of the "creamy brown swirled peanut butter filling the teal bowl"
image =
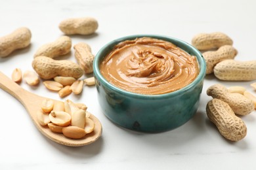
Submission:
<svg viewBox="0 0 256 170">
<path fill-rule="evenodd" d="M 123 90 L 155 95 L 190 84 L 199 68 L 196 57 L 175 44 L 142 37 L 114 46 L 100 63 L 100 72 Z"/>
</svg>

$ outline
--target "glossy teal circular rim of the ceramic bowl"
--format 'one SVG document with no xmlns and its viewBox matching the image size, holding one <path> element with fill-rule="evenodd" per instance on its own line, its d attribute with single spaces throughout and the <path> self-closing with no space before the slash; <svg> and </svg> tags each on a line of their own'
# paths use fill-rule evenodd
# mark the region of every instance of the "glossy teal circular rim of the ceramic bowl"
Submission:
<svg viewBox="0 0 256 170">
<path fill-rule="evenodd" d="M 108 82 L 108 80 L 106 80 L 106 78 L 104 78 L 104 76 L 100 73 L 99 65 L 100 65 L 101 58 L 99 56 L 102 56 L 102 53 L 104 53 L 104 51 L 106 49 L 108 49 L 109 46 L 114 46 L 121 41 L 132 40 L 132 39 L 136 39 L 139 37 L 151 37 L 151 38 L 155 38 L 155 39 L 161 39 L 164 41 L 171 40 L 171 42 L 175 45 L 177 45 L 177 43 L 181 43 L 182 46 L 186 46 L 187 48 L 190 48 L 190 50 L 194 51 L 194 54 L 196 54 L 194 56 L 196 56 L 196 58 L 197 58 L 199 69 L 200 69 L 200 72 L 199 72 L 198 76 L 196 77 L 196 79 L 194 79 L 187 86 L 184 86 L 183 88 L 181 88 L 179 90 L 175 90 L 174 92 L 153 94 L 153 95 L 128 92 L 128 91 L 118 88 L 117 86 L 114 86 L 113 84 Z M 179 48 L 181 48 L 181 47 L 179 47 Z M 181 49 L 184 50 L 183 48 L 181 48 Z M 184 50 L 184 51 L 186 51 L 186 50 Z M 104 46 L 102 46 L 102 48 L 100 48 L 100 50 L 96 54 L 95 59 L 93 61 L 93 75 L 96 77 L 96 79 L 98 79 L 100 84 L 104 84 L 104 86 L 107 86 L 108 88 L 110 88 L 111 90 L 114 90 L 115 92 L 118 92 L 119 94 L 125 95 L 127 97 L 130 96 L 130 97 L 135 97 L 135 98 L 140 98 L 140 99 L 141 98 L 157 99 L 157 98 L 166 98 L 166 97 L 181 95 L 182 93 L 187 92 L 188 90 L 190 90 L 191 88 L 196 86 L 196 84 L 199 84 L 201 82 L 201 80 L 205 77 L 205 72 L 206 72 L 205 59 L 203 59 L 203 56 L 198 49 L 196 49 L 194 46 L 192 46 L 188 42 L 182 41 L 181 39 L 177 39 L 177 38 L 169 37 L 169 36 L 165 36 L 165 35 L 156 35 L 156 34 L 127 35 L 125 37 L 120 37 L 118 39 L 114 39 L 114 40 L 108 42 L 107 44 L 105 44 Z"/>
</svg>

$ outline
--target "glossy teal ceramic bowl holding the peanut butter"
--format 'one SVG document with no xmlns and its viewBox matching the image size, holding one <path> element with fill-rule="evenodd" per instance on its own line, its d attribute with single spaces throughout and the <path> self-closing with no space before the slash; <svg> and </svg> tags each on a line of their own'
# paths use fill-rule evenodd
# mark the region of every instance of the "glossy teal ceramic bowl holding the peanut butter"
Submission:
<svg viewBox="0 0 256 170">
<path fill-rule="evenodd" d="M 137 37 L 152 37 L 172 42 L 190 55 L 196 56 L 200 66 L 197 78 L 188 86 L 175 92 L 160 95 L 143 95 L 117 88 L 100 73 L 102 59 L 121 41 Z M 203 88 L 206 64 L 202 54 L 192 45 L 161 35 L 131 35 L 109 42 L 95 56 L 93 71 L 102 112 L 115 124 L 144 132 L 161 132 L 182 126 L 198 109 Z"/>
</svg>

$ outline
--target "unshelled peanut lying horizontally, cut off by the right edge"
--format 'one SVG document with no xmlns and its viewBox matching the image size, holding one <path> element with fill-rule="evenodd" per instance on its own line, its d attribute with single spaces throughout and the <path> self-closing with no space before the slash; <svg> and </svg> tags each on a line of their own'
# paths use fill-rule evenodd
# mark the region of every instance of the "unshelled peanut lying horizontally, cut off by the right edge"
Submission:
<svg viewBox="0 0 256 170">
<path fill-rule="evenodd" d="M 215 65 L 213 73 L 220 80 L 256 80 L 256 60 L 236 61 L 234 59 L 225 59 Z"/>
</svg>

